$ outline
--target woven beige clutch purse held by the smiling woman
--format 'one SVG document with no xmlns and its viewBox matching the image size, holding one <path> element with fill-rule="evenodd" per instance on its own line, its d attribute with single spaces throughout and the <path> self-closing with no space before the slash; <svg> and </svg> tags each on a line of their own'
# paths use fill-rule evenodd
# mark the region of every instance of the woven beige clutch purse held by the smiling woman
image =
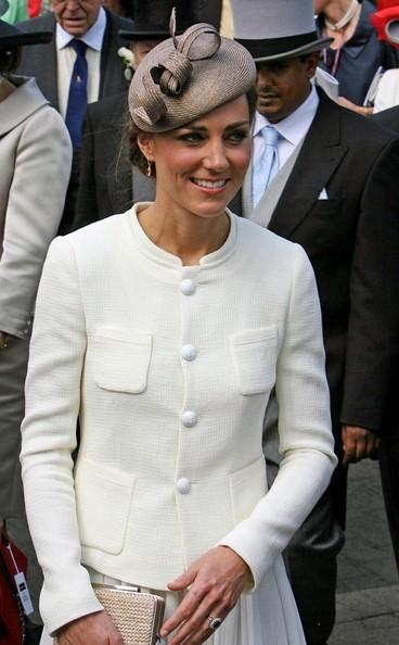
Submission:
<svg viewBox="0 0 399 645">
<path fill-rule="evenodd" d="M 124 645 L 155 645 L 164 619 L 165 600 L 134 586 L 93 584 L 96 597 L 119 630 Z M 54 638 L 54 645 L 57 638 Z"/>
</svg>

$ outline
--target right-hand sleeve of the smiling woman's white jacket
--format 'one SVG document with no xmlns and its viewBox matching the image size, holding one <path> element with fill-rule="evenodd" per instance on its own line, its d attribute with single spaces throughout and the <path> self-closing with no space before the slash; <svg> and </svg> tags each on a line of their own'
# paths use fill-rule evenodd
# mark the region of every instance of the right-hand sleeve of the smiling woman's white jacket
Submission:
<svg viewBox="0 0 399 645">
<path fill-rule="evenodd" d="M 283 459 L 252 515 L 219 542 L 247 562 L 254 589 L 324 492 L 336 465 L 324 362 L 314 275 L 296 246 L 275 383 Z"/>
</svg>

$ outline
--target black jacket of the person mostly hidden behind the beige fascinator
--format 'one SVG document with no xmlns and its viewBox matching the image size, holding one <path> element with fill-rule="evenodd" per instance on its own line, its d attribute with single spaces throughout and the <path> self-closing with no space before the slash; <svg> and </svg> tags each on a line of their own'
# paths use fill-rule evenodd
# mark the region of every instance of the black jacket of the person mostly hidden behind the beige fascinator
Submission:
<svg viewBox="0 0 399 645">
<path fill-rule="evenodd" d="M 74 229 L 114 213 L 124 213 L 133 200 L 154 199 L 154 179 L 149 179 L 140 170 L 132 168 L 128 160 L 128 142 L 125 137 L 127 111 L 126 92 L 88 105 L 80 150 L 80 182 Z"/>
</svg>

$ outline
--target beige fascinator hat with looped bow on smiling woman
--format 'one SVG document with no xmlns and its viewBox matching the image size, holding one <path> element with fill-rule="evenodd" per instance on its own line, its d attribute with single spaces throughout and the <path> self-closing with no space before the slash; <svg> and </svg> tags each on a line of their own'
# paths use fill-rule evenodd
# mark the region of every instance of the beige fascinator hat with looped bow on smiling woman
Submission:
<svg viewBox="0 0 399 645">
<path fill-rule="evenodd" d="M 255 84 L 253 56 L 211 25 L 196 24 L 176 36 L 172 13 L 170 31 L 171 38 L 146 54 L 130 84 L 130 115 L 145 132 L 181 127 Z"/>
</svg>

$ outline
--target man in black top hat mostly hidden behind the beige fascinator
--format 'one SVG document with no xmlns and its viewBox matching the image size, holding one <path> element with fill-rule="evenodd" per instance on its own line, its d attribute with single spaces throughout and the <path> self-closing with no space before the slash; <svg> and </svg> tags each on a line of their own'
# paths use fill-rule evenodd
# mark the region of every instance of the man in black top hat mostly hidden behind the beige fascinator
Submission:
<svg viewBox="0 0 399 645">
<path fill-rule="evenodd" d="M 198 21 L 195 2 L 133 1 L 134 27 L 123 31 L 121 36 L 130 42 L 136 66 L 155 45 L 169 37 L 169 20 L 173 7 L 178 34 Z M 113 213 L 123 213 L 133 201 L 151 201 L 155 197 L 154 179 L 144 177 L 129 163 L 128 142 L 125 138 L 127 116 L 126 90 L 88 106 L 74 229 Z"/>
</svg>

